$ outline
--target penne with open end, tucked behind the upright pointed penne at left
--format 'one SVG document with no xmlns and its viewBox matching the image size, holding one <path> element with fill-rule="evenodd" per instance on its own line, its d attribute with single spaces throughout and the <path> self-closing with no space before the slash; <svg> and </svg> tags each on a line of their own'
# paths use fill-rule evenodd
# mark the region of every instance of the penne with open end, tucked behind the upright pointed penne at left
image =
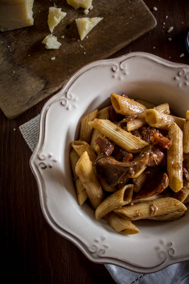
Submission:
<svg viewBox="0 0 189 284">
<path fill-rule="evenodd" d="M 85 141 L 73 141 L 72 147 L 76 151 L 76 153 L 81 157 L 85 151 L 87 151 L 90 161 L 92 162 L 92 165 L 94 166 L 95 160 L 97 158 L 95 152 L 90 147 L 90 145 Z"/>
</svg>

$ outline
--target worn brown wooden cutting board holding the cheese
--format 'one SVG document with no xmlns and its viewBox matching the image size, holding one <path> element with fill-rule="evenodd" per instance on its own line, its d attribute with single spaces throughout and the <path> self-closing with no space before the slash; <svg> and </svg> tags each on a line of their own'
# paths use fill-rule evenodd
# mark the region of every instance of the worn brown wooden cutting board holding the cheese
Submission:
<svg viewBox="0 0 189 284">
<path fill-rule="evenodd" d="M 53 31 L 62 45 L 47 50 L 42 40 L 50 34 L 47 14 L 54 2 L 67 15 Z M 0 107 L 9 119 L 63 87 L 85 64 L 106 59 L 156 26 L 142 0 L 93 0 L 92 5 L 85 15 L 83 8 L 74 10 L 66 0 L 34 1 L 33 26 L 0 33 Z M 81 17 L 103 20 L 78 41 L 74 19 Z"/>
</svg>

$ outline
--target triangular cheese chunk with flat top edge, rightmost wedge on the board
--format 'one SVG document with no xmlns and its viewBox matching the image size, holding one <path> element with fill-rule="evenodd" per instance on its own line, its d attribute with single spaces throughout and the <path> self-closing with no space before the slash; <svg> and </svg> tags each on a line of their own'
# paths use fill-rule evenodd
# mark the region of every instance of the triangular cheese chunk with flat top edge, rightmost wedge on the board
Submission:
<svg viewBox="0 0 189 284">
<path fill-rule="evenodd" d="M 79 18 L 75 19 L 81 40 L 102 20 L 103 18 Z"/>
</svg>

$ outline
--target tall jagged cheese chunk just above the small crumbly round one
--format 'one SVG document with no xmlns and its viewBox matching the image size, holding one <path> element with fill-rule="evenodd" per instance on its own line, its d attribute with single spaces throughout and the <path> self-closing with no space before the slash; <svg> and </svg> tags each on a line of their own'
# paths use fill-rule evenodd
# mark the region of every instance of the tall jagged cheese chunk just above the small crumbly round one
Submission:
<svg viewBox="0 0 189 284">
<path fill-rule="evenodd" d="M 54 30 L 54 27 L 60 23 L 60 21 L 65 17 L 66 13 L 61 12 L 62 8 L 50 7 L 49 8 L 49 15 L 48 15 L 48 26 L 51 33 Z"/>
</svg>

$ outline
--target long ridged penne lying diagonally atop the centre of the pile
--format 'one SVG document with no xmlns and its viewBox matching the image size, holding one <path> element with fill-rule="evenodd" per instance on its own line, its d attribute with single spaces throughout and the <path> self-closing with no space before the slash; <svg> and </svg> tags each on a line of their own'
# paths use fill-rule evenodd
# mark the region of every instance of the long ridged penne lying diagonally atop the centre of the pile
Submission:
<svg viewBox="0 0 189 284">
<path fill-rule="evenodd" d="M 88 124 L 128 152 L 137 153 L 149 145 L 107 119 L 94 119 Z"/>
</svg>

